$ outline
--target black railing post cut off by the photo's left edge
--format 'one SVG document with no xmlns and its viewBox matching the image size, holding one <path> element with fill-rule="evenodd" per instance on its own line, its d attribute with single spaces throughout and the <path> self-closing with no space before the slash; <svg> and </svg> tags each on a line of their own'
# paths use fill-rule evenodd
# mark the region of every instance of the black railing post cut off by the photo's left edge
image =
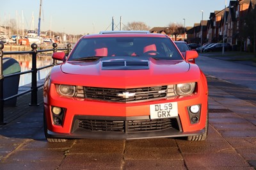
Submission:
<svg viewBox="0 0 256 170">
<path fill-rule="evenodd" d="M 3 75 L 3 56 L 4 44 L 0 42 L 0 125 L 4 123 L 4 75 Z"/>
</svg>

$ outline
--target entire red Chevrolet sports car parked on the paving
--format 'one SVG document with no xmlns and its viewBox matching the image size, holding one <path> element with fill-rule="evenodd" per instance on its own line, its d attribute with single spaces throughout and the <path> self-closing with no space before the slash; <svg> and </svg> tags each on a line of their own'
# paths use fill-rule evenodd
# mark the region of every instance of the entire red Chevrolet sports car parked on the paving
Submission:
<svg viewBox="0 0 256 170">
<path fill-rule="evenodd" d="M 85 35 L 44 84 L 45 137 L 146 139 L 207 137 L 208 89 L 196 51 L 147 31 Z"/>
</svg>

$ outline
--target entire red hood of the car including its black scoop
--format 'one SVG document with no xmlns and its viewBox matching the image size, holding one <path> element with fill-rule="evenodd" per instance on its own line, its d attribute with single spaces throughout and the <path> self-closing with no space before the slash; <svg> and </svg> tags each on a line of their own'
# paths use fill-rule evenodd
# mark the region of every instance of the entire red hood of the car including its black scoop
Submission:
<svg viewBox="0 0 256 170">
<path fill-rule="evenodd" d="M 183 60 L 157 60 L 147 57 L 106 57 L 97 61 L 66 61 L 54 66 L 51 82 L 77 86 L 134 88 L 182 82 L 196 82 L 200 69 Z"/>
</svg>

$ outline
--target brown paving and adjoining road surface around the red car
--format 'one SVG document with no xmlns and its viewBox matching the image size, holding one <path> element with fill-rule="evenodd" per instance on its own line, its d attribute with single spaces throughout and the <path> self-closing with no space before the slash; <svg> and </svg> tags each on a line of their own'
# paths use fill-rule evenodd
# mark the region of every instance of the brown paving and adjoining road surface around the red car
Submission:
<svg viewBox="0 0 256 170">
<path fill-rule="evenodd" d="M 251 85 L 255 68 L 245 70 L 248 66 L 203 56 L 196 63 L 209 84 L 205 141 L 76 139 L 47 143 L 40 89 L 38 107 L 28 106 L 30 96 L 26 95 L 18 98 L 17 107 L 5 108 L 0 169 L 255 169 L 256 90 Z"/>
</svg>

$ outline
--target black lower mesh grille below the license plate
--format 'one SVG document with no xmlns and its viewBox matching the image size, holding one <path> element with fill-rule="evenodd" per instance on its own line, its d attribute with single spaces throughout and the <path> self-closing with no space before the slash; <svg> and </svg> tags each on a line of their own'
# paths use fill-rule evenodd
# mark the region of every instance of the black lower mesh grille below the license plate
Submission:
<svg viewBox="0 0 256 170">
<path fill-rule="evenodd" d="M 79 120 L 79 127 L 90 132 L 114 132 L 114 133 L 133 133 L 133 132 L 155 132 L 168 128 L 178 128 L 175 118 L 164 118 L 158 120 Z"/>
</svg>

